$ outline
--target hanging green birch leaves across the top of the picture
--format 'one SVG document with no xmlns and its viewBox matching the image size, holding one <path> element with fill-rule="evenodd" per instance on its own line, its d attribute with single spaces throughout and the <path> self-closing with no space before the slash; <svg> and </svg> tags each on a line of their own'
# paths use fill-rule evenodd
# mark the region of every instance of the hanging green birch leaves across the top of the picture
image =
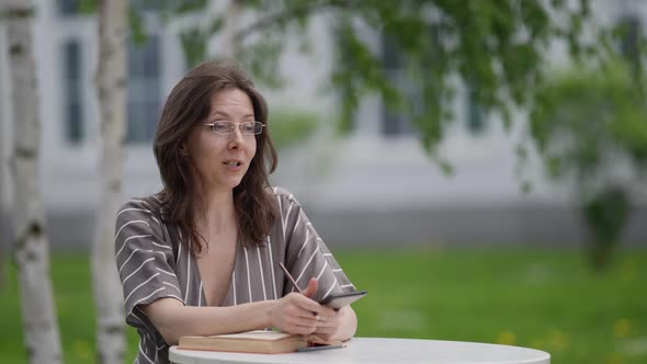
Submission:
<svg viewBox="0 0 647 364">
<path fill-rule="evenodd" d="M 146 3 L 152 0 L 140 0 Z M 92 11 L 92 1 L 83 1 Z M 159 3 L 159 2 L 158 2 Z M 506 123 L 513 121 L 512 105 L 529 105 L 534 87 L 545 71 L 546 50 L 552 42 L 567 43 L 572 57 L 600 55 L 598 36 L 583 39 L 582 24 L 590 15 L 588 0 L 444 1 L 444 0 L 237 0 L 239 12 L 253 12 L 252 22 L 235 27 L 235 58 L 258 80 L 282 86 L 280 60 L 286 48 L 286 35 L 299 37 L 300 50 L 311 42 L 307 26 L 317 15 L 329 15 L 337 31 L 337 52 L 329 87 L 343 98 L 340 128 L 352 123 L 359 100 L 372 93 L 382 96 L 391 109 L 411 113 L 420 139 L 432 157 L 443 137 L 444 124 L 453 122 L 451 101 L 453 75 L 474 88 L 474 96 L 486 111 L 499 112 Z M 575 5 L 574 5 L 575 3 Z M 162 1 L 167 20 L 190 19 L 181 30 L 189 66 L 211 58 L 209 39 L 223 32 L 226 11 L 209 11 L 208 0 Z M 146 36 L 141 14 L 133 9 L 132 34 Z M 605 31 L 609 31 L 605 29 Z M 383 67 L 385 60 L 364 36 L 383 34 L 396 45 L 386 62 L 405 66 L 417 100 L 407 90 L 394 86 Z M 478 36 L 475 36 L 478 35 Z"/>
</svg>

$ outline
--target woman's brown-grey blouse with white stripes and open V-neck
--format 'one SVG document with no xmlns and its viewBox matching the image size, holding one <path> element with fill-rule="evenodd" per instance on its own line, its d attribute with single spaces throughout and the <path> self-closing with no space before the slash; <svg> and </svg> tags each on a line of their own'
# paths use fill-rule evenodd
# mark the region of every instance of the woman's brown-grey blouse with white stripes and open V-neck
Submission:
<svg viewBox="0 0 647 364">
<path fill-rule="evenodd" d="M 229 292 L 223 306 L 276 299 L 295 288 L 279 266 L 284 262 L 305 289 L 310 277 L 319 280 L 315 300 L 332 293 L 354 291 L 296 198 L 273 189 L 277 218 L 263 246 L 238 244 Z M 140 305 L 173 297 L 186 306 L 206 306 L 195 255 L 180 244 L 183 239 L 166 225 L 155 196 L 126 202 L 116 216 L 115 254 L 122 285 L 126 322 L 139 333 L 135 363 L 169 363 L 169 345 L 146 317 Z"/>
</svg>

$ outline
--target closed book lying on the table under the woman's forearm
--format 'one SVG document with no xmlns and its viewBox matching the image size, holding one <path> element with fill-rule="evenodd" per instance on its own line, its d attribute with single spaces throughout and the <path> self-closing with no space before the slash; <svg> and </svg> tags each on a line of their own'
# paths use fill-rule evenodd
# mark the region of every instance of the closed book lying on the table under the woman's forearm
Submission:
<svg viewBox="0 0 647 364">
<path fill-rule="evenodd" d="M 279 354 L 321 346 L 342 348 L 341 341 L 325 341 L 316 335 L 276 331 L 247 331 L 209 337 L 182 337 L 179 349 Z M 321 348 L 322 349 L 322 348 Z"/>
</svg>

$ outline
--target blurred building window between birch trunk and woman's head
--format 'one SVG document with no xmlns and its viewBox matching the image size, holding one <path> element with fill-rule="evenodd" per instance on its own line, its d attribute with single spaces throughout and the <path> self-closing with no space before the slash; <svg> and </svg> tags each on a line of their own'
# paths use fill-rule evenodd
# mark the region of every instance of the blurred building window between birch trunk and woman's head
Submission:
<svg viewBox="0 0 647 364">
<path fill-rule="evenodd" d="M 152 140 L 160 112 L 161 54 L 158 35 L 145 44 L 128 46 L 128 126 L 129 143 Z"/>
</svg>

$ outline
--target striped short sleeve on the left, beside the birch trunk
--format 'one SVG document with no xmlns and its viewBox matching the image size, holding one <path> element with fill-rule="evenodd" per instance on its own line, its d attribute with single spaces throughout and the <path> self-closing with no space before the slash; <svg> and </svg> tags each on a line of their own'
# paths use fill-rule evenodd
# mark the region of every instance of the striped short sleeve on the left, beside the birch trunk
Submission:
<svg viewBox="0 0 647 364">
<path fill-rule="evenodd" d="M 126 319 L 138 321 L 133 310 L 162 297 L 184 304 L 175 275 L 173 249 L 152 203 L 126 202 L 116 215 L 115 260 L 124 289 Z"/>
</svg>

